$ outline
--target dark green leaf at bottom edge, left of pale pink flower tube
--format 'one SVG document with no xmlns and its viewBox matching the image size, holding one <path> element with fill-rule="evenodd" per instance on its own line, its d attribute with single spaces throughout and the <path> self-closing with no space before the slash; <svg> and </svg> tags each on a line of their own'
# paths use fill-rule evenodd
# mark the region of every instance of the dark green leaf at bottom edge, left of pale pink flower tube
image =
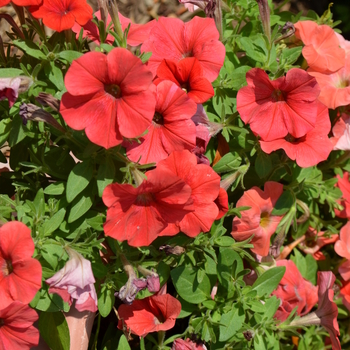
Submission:
<svg viewBox="0 0 350 350">
<path fill-rule="evenodd" d="M 69 328 L 62 312 L 42 312 L 38 326 L 40 336 L 51 350 L 69 350 Z"/>
</svg>

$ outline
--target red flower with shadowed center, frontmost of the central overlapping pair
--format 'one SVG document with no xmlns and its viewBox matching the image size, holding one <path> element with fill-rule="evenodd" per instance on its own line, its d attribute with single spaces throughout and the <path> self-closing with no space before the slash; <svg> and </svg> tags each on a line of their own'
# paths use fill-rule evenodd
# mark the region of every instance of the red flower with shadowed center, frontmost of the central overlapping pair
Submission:
<svg viewBox="0 0 350 350">
<path fill-rule="evenodd" d="M 133 247 L 150 245 L 168 224 L 192 211 L 191 188 L 165 169 L 146 172 L 139 187 L 111 184 L 103 191 L 108 207 L 104 231 Z"/>
</svg>

